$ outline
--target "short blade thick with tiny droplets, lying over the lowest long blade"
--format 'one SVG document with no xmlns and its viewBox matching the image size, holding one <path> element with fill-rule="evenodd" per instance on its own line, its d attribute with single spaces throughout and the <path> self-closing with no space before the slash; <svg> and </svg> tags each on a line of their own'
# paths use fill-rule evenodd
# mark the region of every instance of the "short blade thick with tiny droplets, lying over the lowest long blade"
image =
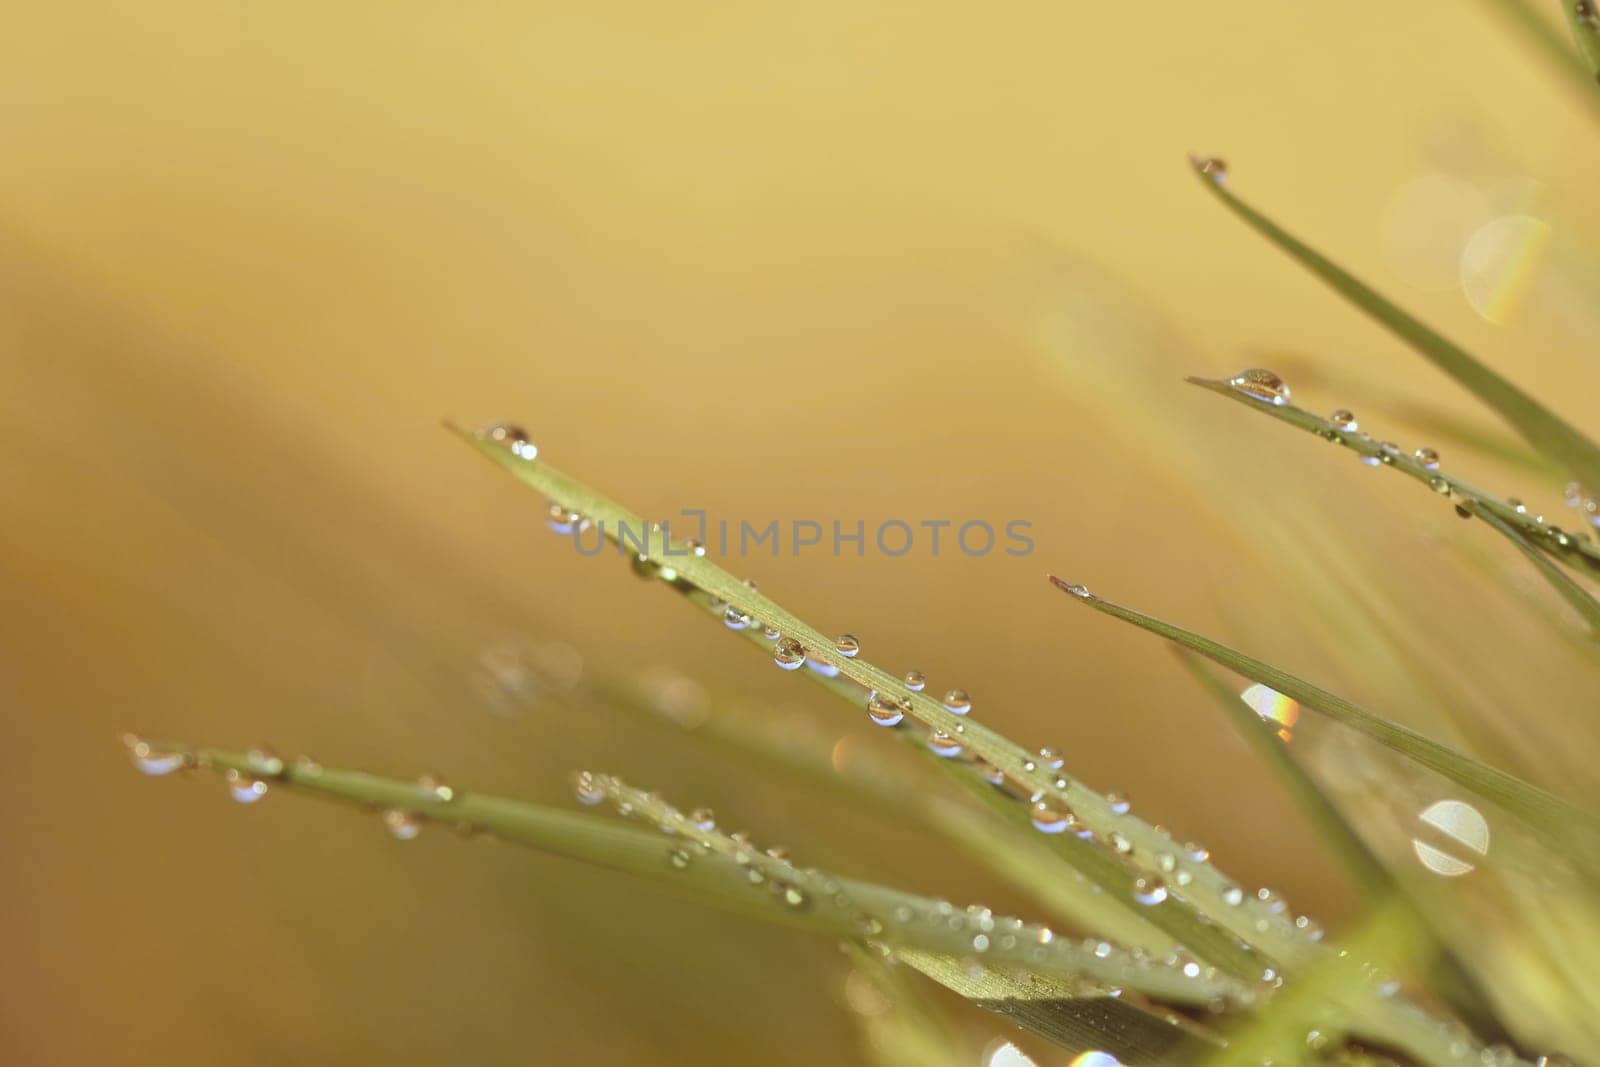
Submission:
<svg viewBox="0 0 1600 1067">
<path fill-rule="evenodd" d="M 981 905 L 957 907 L 877 886 L 850 886 L 834 875 L 797 867 L 784 848 L 760 848 L 750 835 L 718 829 L 709 808 L 683 813 L 656 793 L 627 785 L 610 774 L 578 771 L 573 793 L 586 806 L 610 801 L 618 814 L 643 819 L 680 838 L 667 864 L 688 870 L 699 856 L 733 861 L 749 885 L 765 888 L 786 907 L 818 910 L 842 920 L 859 936 L 894 945 L 971 955 L 1000 965 L 1048 969 L 1083 982 L 1078 992 L 1117 995 L 1120 985 L 1152 995 L 1181 997 L 1218 1009 L 1248 1001 L 1251 993 L 1187 953 L 1154 958 L 1142 949 L 1120 949 L 1107 941 L 1070 941 L 1050 926 L 998 917 Z"/>
</svg>

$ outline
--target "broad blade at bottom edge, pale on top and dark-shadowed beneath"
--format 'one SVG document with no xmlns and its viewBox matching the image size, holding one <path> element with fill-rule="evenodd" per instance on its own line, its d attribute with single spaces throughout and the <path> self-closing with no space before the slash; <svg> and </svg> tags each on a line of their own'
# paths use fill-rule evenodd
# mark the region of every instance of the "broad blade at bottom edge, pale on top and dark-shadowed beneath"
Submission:
<svg viewBox="0 0 1600 1067">
<path fill-rule="evenodd" d="M 1125 1064 L 1190 1064 L 1222 1040 L 1184 1016 L 1157 1014 L 1128 997 L 1085 997 L 1066 982 L 1016 971 L 974 971 L 958 960 L 896 952 L 946 989 L 1072 1053 L 1099 1049 Z"/>
</svg>

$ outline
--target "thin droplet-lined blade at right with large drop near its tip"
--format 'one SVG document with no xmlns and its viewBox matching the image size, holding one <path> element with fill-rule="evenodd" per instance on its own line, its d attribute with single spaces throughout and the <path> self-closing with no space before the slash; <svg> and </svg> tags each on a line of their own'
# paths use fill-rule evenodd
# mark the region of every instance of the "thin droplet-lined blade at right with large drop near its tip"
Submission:
<svg viewBox="0 0 1600 1067">
<path fill-rule="evenodd" d="M 1421 482 L 1434 493 L 1456 501 L 1461 507 L 1470 507 L 1474 514 L 1494 515 L 1501 523 L 1520 533 L 1528 544 L 1538 545 L 1570 566 L 1600 576 L 1600 547 L 1595 542 L 1546 523 L 1542 515 L 1528 514 L 1528 509 L 1515 501 L 1499 499 L 1462 478 L 1440 470 L 1437 461 L 1424 462 L 1414 454 L 1408 456 L 1392 445 L 1376 442 L 1360 430 L 1342 429 L 1333 421 L 1298 408 L 1286 400 L 1283 403 L 1262 403 L 1259 397 L 1242 390 L 1232 381 L 1218 378 L 1189 378 L 1187 381 L 1229 400 L 1235 400 L 1253 411 L 1261 411 L 1274 419 L 1309 430 L 1323 440 L 1344 445 L 1358 456 L 1378 461 Z"/>
</svg>

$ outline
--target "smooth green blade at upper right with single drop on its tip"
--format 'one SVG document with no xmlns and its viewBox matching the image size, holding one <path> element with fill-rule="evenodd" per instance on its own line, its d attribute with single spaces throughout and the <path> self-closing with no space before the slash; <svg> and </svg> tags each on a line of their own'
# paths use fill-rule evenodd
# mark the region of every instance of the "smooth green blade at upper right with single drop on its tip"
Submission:
<svg viewBox="0 0 1600 1067">
<path fill-rule="evenodd" d="M 1499 413 L 1530 445 L 1549 456 L 1581 485 L 1600 486 L 1600 448 L 1594 442 L 1510 381 L 1480 363 L 1466 349 L 1448 341 L 1378 290 L 1235 197 L 1227 189 L 1226 176 L 1216 171 L 1214 163 L 1208 170 L 1208 162 L 1197 160 L 1195 170 L 1205 187 L 1251 229 L 1461 382 L 1478 400 Z"/>
</svg>

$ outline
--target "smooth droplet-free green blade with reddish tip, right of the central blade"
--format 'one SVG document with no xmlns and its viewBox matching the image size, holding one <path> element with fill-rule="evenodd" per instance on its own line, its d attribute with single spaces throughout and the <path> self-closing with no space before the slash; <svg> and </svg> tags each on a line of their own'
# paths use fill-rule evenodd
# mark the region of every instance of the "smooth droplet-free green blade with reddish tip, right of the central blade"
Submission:
<svg viewBox="0 0 1600 1067">
<path fill-rule="evenodd" d="M 1600 824 L 1595 816 L 1566 803 L 1538 785 L 1523 782 L 1486 763 L 1480 763 L 1467 755 L 1443 745 L 1432 737 L 1426 737 L 1408 726 L 1374 715 L 1341 696 L 1334 696 L 1286 670 L 1280 670 L 1253 656 L 1213 641 L 1182 627 L 1173 625 L 1142 611 L 1125 608 L 1090 593 L 1078 585 L 1069 585 L 1054 574 L 1050 576 L 1062 592 L 1074 600 L 1090 605 L 1096 611 L 1131 622 L 1150 633 L 1176 641 L 1184 648 L 1200 653 L 1206 659 L 1218 662 L 1229 670 L 1245 675 L 1261 685 L 1277 689 L 1283 696 L 1299 701 L 1328 718 L 1344 723 L 1352 729 L 1366 734 L 1387 749 L 1408 757 L 1410 760 L 1443 774 L 1458 785 L 1472 790 L 1478 797 L 1490 800 L 1507 813 L 1515 814 L 1538 832 L 1546 841 L 1560 849 L 1571 848 L 1574 840 L 1586 849 L 1600 846 Z"/>
</svg>

